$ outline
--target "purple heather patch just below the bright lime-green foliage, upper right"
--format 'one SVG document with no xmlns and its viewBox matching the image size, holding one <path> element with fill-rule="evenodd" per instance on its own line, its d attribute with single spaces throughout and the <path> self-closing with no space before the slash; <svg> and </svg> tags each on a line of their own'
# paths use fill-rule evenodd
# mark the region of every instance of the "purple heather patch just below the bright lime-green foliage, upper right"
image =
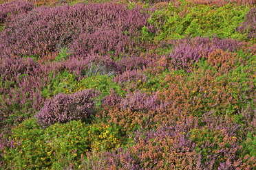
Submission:
<svg viewBox="0 0 256 170">
<path fill-rule="evenodd" d="M 202 57 L 207 58 L 208 54 L 215 49 L 233 52 L 239 51 L 244 46 L 243 42 L 238 40 L 216 37 L 212 39 L 195 37 L 191 40 L 184 38 L 182 40 L 172 40 L 170 44 L 176 44 L 171 53 L 167 54 L 167 58 L 175 69 L 187 69 L 190 62 L 195 62 Z"/>
</svg>

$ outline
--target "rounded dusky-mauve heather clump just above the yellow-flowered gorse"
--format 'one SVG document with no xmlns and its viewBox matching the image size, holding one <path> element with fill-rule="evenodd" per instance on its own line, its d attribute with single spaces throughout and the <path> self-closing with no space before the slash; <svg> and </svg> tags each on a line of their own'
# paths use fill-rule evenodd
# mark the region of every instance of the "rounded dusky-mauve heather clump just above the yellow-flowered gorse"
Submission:
<svg viewBox="0 0 256 170">
<path fill-rule="evenodd" d="M 88 119 L 93 112 L 96 93 L 93 90 L 81 90 L 71 95 L 60 93 L 47 99 L 34 117 L 44 128 L 57 122 Z"/>
</svg>

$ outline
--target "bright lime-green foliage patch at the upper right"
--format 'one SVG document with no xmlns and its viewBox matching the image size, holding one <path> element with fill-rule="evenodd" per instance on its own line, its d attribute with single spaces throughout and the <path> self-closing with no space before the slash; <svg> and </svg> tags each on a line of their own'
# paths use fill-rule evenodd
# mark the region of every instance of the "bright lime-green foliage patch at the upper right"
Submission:
<svg viewBox="0 0 256 170">
<path fill-rule="evenodd" d="M 209 36 L 245 39 L 244 34 L 235 32 L 249 8 L 227 4 L 223 7 L 195 5 L 179 7 L 169 4 L 166 10 L 153 12 L 149 23 L 161 29 L 158 40 L 184 38 L 186 36 Z"/>
</svg>

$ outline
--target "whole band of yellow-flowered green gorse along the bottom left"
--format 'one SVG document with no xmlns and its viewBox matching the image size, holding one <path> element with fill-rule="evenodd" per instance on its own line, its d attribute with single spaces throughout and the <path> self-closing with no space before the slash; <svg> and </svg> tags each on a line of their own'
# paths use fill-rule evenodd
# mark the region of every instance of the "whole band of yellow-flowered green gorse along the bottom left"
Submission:
<svg viewBox="0 0 256 170">
<path fill-rule="evenodd" d="M 62 169 L 78 167 L 87 151 L 110 151 L 125 144 L 126 137 L 116 126 L 87 125 L 79 121 L 56 123 L 43 130 L 34 118 L 12 129 L 10 140 L 16 148 L 6 148 L 3 159 L 17 169 Z"/>
</svg>

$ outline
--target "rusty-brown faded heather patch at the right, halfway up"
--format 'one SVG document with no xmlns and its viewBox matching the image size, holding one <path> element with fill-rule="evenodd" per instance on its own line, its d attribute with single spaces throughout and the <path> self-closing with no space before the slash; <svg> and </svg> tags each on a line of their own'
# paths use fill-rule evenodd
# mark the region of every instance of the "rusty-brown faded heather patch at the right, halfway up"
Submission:
<svg viewBox="0 0 256 170">
<path fill-rule="evenodd" d="M 229 69 L 227 64 L 222 69 Z M 226 68 L 225 68 L 226 66 Z M 215 71 L 214 71 L 215 72 Z M 159 95 L 167 101 L 168 112 L 176 112 L 177 108 L 187 114 L 200 117 L 204 112 L 217 110 L 215 114 L 235 114 L 247 101 L 253 100 L 255 86 L 252 81 L 239 84 L 239 76 L 234 80 L 221 78 L 222 74 L 210 70 L 198 69 L 190 77 L 167 74 Z M 251 77 L 253 79 L 253 77 Z M 245 90 L 245 87 L 248 87 Z M 158 121 L 168 123 L 169 115 L 158 115 Z"/>
</svg>

